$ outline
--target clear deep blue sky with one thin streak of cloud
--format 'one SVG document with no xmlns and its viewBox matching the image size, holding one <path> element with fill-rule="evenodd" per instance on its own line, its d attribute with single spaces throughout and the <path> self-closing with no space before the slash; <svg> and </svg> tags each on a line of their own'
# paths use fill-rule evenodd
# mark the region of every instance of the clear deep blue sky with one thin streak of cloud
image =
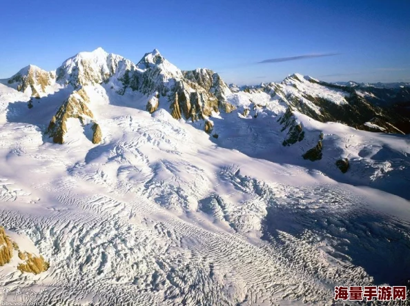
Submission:
<svg viewBox="0 0 410 306">
<path fill-rule="evenodd" d="M 102 47 L 134 62 L 157 48 L 239 85 L 410 81 L 410 0 L 19 0 L 1 1 L 0 21 L 0 78 Z"/>
</svg>

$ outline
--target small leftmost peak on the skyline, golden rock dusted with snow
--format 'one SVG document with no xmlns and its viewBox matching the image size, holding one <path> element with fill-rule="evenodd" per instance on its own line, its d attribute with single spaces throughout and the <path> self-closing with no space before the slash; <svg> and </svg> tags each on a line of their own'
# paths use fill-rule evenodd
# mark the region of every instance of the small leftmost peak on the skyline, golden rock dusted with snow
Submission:
<svg viewBox="0 0 410 306">
<path fill-rule="evenodd" d="M 27 92 L 30 96 L 40 97 L 46 88 L 55 83 L 55 72 L 47 72 L 36 65 L 28 65 L 8 79 L 19 92 Z"/>
</svg>

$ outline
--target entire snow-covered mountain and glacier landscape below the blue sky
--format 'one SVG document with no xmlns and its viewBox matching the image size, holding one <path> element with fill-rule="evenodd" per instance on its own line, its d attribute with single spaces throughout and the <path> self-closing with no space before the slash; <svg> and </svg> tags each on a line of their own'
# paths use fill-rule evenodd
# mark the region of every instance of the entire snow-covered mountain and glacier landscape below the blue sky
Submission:
<svg viewBox="0 0 410 306">
<path fill-rule="evenodd" d="M 227 85 L 158 50 L 29 65 L 0 80 L 0 287 L 56 305 L 332 305 L 335 285 L 405 285 L 408 92 Z"/>
</svg>

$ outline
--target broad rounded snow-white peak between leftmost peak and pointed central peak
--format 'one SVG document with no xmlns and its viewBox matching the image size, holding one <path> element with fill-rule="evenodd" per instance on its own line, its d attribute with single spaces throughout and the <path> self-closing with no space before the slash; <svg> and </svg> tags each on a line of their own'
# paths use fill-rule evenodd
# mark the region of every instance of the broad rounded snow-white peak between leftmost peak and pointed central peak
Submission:
<svg viewBox="0 0 410 306">
<path fill-rule="evenodd" d="M 97 48 L 92 52 L 80 52 L 70 57 L 57 68 L 57 81 L 62 85 L 94 85 L 108 82 L 111 76 L 124 76 L 126 71 L 135 70 L 135 65 L 117 54 Z"/>
</svg>

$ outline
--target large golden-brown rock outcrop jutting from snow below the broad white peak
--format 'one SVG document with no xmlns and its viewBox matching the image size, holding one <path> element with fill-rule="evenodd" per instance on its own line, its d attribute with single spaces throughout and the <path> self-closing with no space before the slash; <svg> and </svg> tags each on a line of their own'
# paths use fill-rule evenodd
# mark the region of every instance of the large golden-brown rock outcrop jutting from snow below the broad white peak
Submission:
<svg viewBox="0 0 410 306">
<path fill-rule="evenodd" d="M 84 89 L 72 92 L 68 99 L 61 105 L 57 114 L 52 117 L 46 134 L 52 137 L 54 143 L 64 143 L 64 135 L 67 132 L 67 120 L 70 118 L 77 118 L 81 125 L 85 125 L 86 121 L 94 122 L 92 119 L 94 115 L 88 108 L 87 93 Z M 101 132 L 101 130 L 100 130 Z"/>
</svg>

